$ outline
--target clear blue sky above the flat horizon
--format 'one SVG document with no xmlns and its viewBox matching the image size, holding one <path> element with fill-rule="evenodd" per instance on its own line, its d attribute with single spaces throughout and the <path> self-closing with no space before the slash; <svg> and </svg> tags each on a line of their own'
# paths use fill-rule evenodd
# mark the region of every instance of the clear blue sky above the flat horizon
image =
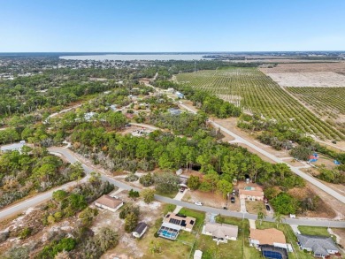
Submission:
<svg viewBox="0 0 345 259">
<path fill-rule="evenodd" d="M 0 52 L 345 50 L 344 0 L 0 0 Z"/>
</svg>

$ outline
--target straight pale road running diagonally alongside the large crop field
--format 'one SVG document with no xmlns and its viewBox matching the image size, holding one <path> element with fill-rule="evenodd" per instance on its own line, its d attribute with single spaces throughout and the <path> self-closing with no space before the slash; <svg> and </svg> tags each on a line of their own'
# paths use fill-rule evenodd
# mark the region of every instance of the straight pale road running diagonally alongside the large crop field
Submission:
<svg viewBox="0 0 345 259">
<path fill-rule="evenodd" d="M 181 107 L 183 107 L 184 109 L 186 109 L 186 110 L 189 110 L 189 111 L 191 111 L 193 113 L 196 113 L 196 110 L 190 109 L 188 106 L 184 105 L 183 103 L 180 103 L 179 105 Z M 295 172 L 295 174 L 297 174 L 300 177 L 302 177 L 303 179 L 309 181 L 311 184 L 313 184 L 314 186 L 316 186 L 316 187 L 320 188 L 321 190 L 325 191 L 327 194 L 330 194 L 330 195 L 334 196 L 335 199 L 345 203 L 345 196 L 339 194 L 338 192 L 334 191 L 334 189 L 332 189 L 330 187 L 327 187 L 323 183 L 319 182 L 318 179 L 315 179 L 315 178 L 311 177 L 310 175 L 308 175 L 308 174 L 304 173 L 303 171 L 299 170 L 297 167 L 292 166 L 292 165 L 284 162 L 279 157 L 274 156 L 271 153 L 268 153 L 267 151 L 265 151 L 264 149 L 261 149 L 261 148 L 257 147 L 255 144 L 253 144 L 253 143 L 243 139 L 241 136 L 239 136 L 239 135 L 229 131 L 224 126 L 220 126 L 218 123 L 216 123 L 214 121 L 210 121 L 210 122 L 211 122 L 211 124 L 214 127 L 219 128 L 220 130 L 222 130 L 223 132 L 229 134 L 230 136 L 233 136 L 236 141 L 240 141 L 243 144 L 249 146 L 250 148 L 257 150 L 257 152 L 263 154 L 264 156 L 269 157 L 274 162 L 287 164 L 288 167 L 291 169 L 291 171 Z"/>
</svg>

